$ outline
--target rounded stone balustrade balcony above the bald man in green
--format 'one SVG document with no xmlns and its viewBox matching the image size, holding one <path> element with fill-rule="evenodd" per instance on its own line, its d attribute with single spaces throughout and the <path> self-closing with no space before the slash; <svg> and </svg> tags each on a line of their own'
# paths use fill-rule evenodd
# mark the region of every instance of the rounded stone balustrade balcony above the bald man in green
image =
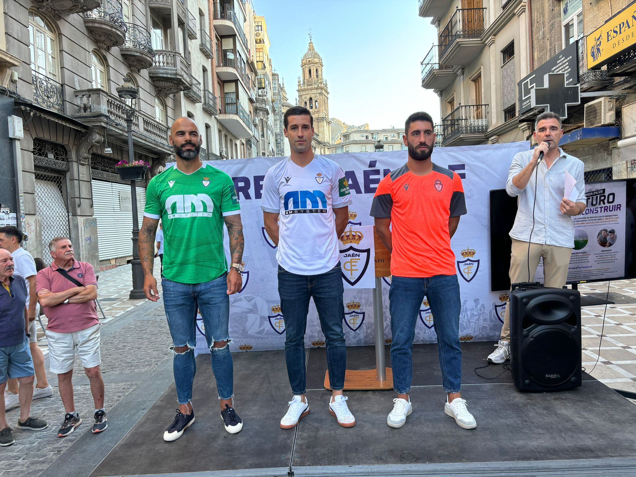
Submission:
<svg viewBox="0 0 636 477">
<path fill-rule="evenodd" d="M 189 90 L 192 86 L 190 64 L 181 53 L 156 50 L 148 75 L 159 95 Z"/>
</svg>

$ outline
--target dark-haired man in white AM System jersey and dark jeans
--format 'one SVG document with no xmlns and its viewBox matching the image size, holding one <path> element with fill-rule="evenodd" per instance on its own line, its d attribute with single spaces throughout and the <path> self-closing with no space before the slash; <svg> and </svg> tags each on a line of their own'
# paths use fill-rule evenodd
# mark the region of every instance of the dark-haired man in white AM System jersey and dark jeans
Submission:
<svg viewBox="0 0 636 477">
<path fill-rule="evenodd" d="M 356 425 L 343 396 L 347 349 L 338 237 L 349 220 L 351 197 L 345 173 L 312 151 L 314 118 L 305 107 L 287 109 L 284 133 L 291 155 L 273 165 L 263 181 L 265 229 L 278 246 L 280 306 L 285 321 L 285 360 L 293 397 L 280 420 L 291 429 L 309 413 L 305 397 L 305 328 L 310 298 L 327 345 L 329 413 L 343 427 Z M 280 221 L 278 220 L 280 217 Z"/>
</svg>

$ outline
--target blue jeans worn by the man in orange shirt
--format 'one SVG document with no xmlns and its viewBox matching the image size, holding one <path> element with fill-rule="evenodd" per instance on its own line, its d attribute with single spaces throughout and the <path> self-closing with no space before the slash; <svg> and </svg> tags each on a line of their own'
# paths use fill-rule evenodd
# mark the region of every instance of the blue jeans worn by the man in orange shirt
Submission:
<svg viewBox="0 0 636 477">
<path fill-rule="evenodd" d="M 459 392 L 462 382 L 462 349 L 459 343 L 459 282 L 457 275 L 426 278 L 391 278 L 391 368 L 393 389 L 408 394 L 413 378 L 413 340 L 417 315 L 426 296 L 438 337 L 439 366 L 444 391 Z"/>
</svg>

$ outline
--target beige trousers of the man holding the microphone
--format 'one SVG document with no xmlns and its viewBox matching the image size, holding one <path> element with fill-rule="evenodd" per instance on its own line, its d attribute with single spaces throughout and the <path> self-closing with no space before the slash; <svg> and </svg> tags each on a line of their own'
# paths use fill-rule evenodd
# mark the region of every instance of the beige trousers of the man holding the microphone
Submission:
<svg viewBox="0 0 636 477">
<path fill-rule="evenodd" d="M 534 273 L 539 266 L 539 259 L 543 257 L 543 275 L 546 287 L 561 288 L 567 280 L 567 266 L 570 263 L 572 249 L 557 247 L 556 245 L 530 244 L 528 242 L 511 239 L 513 241 L 510 254 L 510 284 L 532 282 Z M 528 257 L 530 256 L 530 277 L 528 277 Z M 510 342 L 510 301 L 506 303 L 504 326 L 501 328 L 501 339 Z"/>
</svg>

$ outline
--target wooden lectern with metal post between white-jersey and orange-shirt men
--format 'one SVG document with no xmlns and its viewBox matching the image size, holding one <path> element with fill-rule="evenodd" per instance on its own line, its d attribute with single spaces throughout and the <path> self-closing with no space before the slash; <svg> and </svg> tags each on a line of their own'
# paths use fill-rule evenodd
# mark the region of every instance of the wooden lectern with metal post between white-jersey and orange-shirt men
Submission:
<svg viewBox="0 0 636 477">
<path fill-rule="evenodd" d="M 393 389 L 393 373 L 385 367 L 384 359 L 384 314 L 382 312 L 382 277 L 391 276 L 391 253 L 375 233 L 375 289 L 373 290 L 373 326 L 375 328 L 375 368 L 370 370 L 347 370 L 345 389 L 366 391 L 373 389 Z M 329 386 L 329 371 L 324 375 L 324 387 Z"/>
</svg>

